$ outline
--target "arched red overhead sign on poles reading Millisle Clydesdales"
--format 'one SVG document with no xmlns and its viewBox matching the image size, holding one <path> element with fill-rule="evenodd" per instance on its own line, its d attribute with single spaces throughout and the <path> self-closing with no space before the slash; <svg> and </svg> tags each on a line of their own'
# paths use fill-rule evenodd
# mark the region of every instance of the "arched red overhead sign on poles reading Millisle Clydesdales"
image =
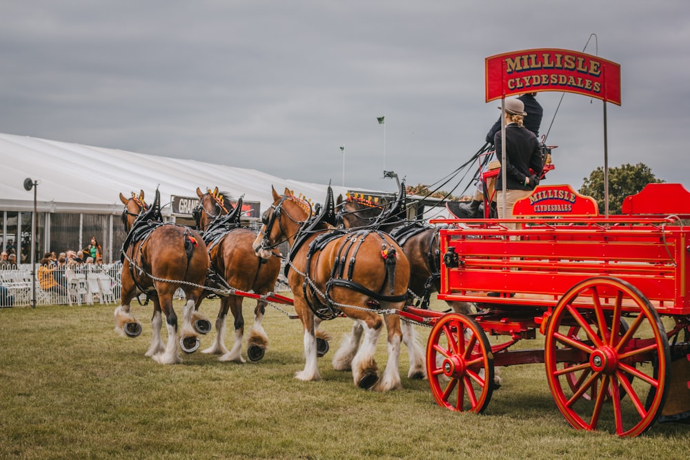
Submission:
<svg viewBox="0 0 690 460">
<path fill-rule="evenodd" d="M 620 64 L 556 48 L 486 58 L 486 102 L 542 91 L 574 92 L 620 106 Z"/>
</svg>

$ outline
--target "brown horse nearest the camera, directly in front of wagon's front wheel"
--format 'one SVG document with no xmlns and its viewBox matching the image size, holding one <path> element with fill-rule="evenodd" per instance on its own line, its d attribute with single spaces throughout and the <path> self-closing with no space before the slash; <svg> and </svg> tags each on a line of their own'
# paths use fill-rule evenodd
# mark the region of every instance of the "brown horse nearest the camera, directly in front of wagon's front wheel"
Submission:
<svg viewBox="0 0 690 460">
<path fill-rule="evenodd" d="M 288 282 L 304 328 L 306 358 L 297 379 L 321 378 L 315 316 L 332 319 L 344 314 L 364 330 L 364 343 L 351 361 L 355 385 L 381 391 L 401 388 L 398 358 L 402 332 L 400 317 L 394 313 L 404 306 L 410 268 L 400 246 L 382 232 L 334 232 L 320 219 L 324 214 L 310 219 L 311 205 L 288 189 L 283 195 L 272 191 L 273 205 L 262 216 L 263 226 L 253 246 L 259 256 L 266 258 L 280 243 L 290 245 Z M 332 201 L 330 188 L 328 193 Z M 388 309 L 381 310 L 383 319 L 378 308 Z M 374 351 L 384 322 L 388 330 L 388 363 L 379 379 Z"/>
</svg>

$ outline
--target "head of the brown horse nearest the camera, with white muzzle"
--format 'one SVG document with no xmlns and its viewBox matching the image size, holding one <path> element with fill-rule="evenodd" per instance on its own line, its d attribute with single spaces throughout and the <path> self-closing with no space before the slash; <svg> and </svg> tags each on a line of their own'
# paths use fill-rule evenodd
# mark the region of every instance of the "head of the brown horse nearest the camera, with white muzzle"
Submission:
<svg viewBox="0 0 690 460">
<path fill-rule="evenodd" d="M 262 214 L 262 228 L 252 245 L 262 259 L 268 259 L 270 250 L 279 244 L 286 241 L 292 244 L 302 224 L 312 214 L 311 204 L 302 197 L 295 197 L 288 188 L 282 195 L 273 187 L 271 191 L 273 204 Z"/>
</svg>

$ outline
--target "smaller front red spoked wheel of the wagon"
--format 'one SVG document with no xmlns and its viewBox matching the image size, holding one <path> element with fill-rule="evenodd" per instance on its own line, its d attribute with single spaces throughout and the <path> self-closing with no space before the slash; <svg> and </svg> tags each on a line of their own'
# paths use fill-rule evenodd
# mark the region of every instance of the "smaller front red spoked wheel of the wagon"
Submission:
<svg viewBox="0 0 690 460">
<path fill-rule="evenodd" d="M 493 354 L 484 330 L 460 313 L 437 321 L 426 345 L 426 374 L 439 406 L 482 412 L 493 392 Z"/>
</svg>

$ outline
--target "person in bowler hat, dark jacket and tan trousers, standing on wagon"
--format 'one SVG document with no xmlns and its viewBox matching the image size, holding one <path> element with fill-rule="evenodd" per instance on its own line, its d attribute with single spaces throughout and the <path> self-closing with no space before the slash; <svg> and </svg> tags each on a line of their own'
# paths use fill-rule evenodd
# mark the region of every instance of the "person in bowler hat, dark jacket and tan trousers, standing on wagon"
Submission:
<svg viewBox="0 0 690 460">
<path fill-rule="evenodd" d="M 515 201 L 529 197 L 532 190 L 539 183 L 539 174 L 542 171 L 542 155 L 539 148 L 539 141 L 535 134 L 525 128 L 524 104 L 520 99 L 506 99 L 506 190 L 503 190 L 504 168 L 496 178 L 496 202 L 498 204 L 499 219 L 513 218 L 513 205 Z M 501 132 L 498 131 L 493 139 L 496 148 L 496 157 L 502 161 L 503 139 Z M 530 172 L 533 170 L 533 173 Z M 506 197 L 505 214 L 503 212 L 503 197 Z M 509 225 L 515 228 L 515 225 Z"/>
</svg>

